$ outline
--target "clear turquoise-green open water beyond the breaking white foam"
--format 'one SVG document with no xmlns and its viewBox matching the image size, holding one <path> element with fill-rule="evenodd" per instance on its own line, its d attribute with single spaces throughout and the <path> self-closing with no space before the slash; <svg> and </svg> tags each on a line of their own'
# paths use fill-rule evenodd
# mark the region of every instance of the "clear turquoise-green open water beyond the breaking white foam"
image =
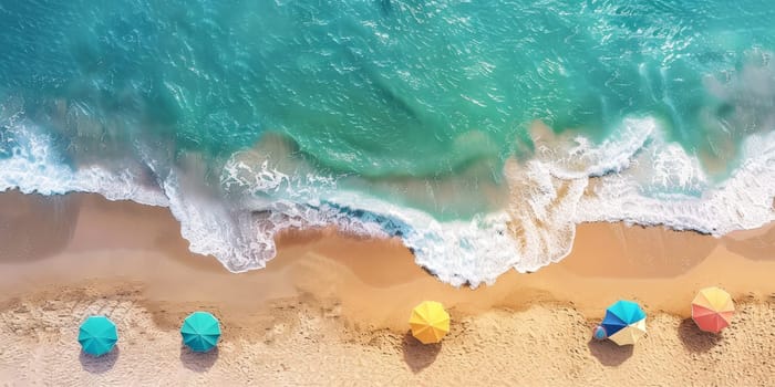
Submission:
<svg viewBox="0 0 775 387">
<path fill-rule="evenodd" d="M 600 137 L 657 113 L 684 147 L 707 146 L 701 111 L 734 106 L 703 76 L 772 49 L 774 13 L 766 1 L 13 2 L 0 71 L 29 114 L 79 104 L 115 142 L 224 155 L 279 132 L 337 170 L 427 176 L 504 159 L 533 119 Z"/>
</svg>

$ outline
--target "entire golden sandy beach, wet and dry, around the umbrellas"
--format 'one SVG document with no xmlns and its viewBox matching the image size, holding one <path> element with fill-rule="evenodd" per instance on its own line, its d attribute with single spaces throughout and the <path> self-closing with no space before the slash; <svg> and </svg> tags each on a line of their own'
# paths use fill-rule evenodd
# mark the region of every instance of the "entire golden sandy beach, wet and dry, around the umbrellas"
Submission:
<svg viewBox="0 0 775 387">
<path fill-rule="evenodd" d="M 92 195 L 0 194 L 0 380 L 8 385 L 765 386 L 775 377 L 775 227 L 722 239 L 592 223 L 537 273 L 476 290 L 443 284 L 397 241 L 289 233 L 266 270 L 231 274 L 192 254 L 163 208 Z M 689 303 L 721 285 L 741 312 L 720 336 Z M 634 347 L 590 342 L 619 297 L 649 313 Z M 445 303 L 452 332 L 423 346 L 411 307 Z M 186 314 L 215 313 L 218 351 L 193 354 Z M 80 352 L 93 313 L 117 351 Z"/>
</svg>

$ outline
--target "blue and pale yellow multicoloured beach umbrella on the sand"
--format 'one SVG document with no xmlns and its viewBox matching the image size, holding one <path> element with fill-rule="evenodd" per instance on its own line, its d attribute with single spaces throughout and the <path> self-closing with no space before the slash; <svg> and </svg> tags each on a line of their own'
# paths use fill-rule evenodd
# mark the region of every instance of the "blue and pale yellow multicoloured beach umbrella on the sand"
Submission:
<svg viewBox="0 0 775 387">
<path fill-rule="evenodd" d="M 606 310 L 600 326 L 613 343 L 636 344 L 645 334 L 645 313 L 637 303 L 620 300 Z"/>
</svg>

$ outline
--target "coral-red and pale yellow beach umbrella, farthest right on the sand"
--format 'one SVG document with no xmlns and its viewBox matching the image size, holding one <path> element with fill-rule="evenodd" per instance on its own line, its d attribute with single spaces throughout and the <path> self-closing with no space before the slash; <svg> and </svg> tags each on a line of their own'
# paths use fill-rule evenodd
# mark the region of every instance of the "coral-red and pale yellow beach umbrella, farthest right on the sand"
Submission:
<svg viewBox="0 0 775 387">
<path fill-rule="evenodd" d="M 732 296 L 719 287 L 702 289 L 692 301 L 692 320 L 705 332 L 721 332 L 730 325 L 734 313 Z"/>
</svg>

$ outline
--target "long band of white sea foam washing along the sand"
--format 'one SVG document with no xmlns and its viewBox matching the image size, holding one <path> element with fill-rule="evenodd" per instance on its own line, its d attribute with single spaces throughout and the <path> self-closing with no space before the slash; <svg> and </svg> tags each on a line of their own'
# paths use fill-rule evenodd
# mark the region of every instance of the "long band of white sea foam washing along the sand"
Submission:
<svg viewBox="0 0 775 387">
<path fill-rule="evenodd" d="M 477 286 L 512 269 L 529 272 L 558 262 L 581 222 L 661 224 L 722 236 L 775 220 L 775 133 L 746 138 L 743 161 L 728 178 L 713 182 L 696 157 L 665 140 L 650 117 L 624 119 L 600 144 L 578 136 L 537 142 L 534 158 L 507 163 L 507 209 L 445 222 L 340 187 L 340 177 L 302 169 L 289 174 L 266 160 L 227 161 L 220 176 L 226 200 L 198 189 L 196 177 L 158 164 L 142 147 L 142 166 L 73 167 L 53 151 L 54 138 L 33 124 L 21 119 L 2 130 L 1 150 L 8 156 L 0 159 L 0 190 L 97 192 L 168 207 L 190 250 L 216 257 L 232 272 L 264 268 L 276 255 L 275 238 L 288 229 L 334 226 L 358 236 L 400 238 L 416 263 L 440 280 Z"/>
</svg>

